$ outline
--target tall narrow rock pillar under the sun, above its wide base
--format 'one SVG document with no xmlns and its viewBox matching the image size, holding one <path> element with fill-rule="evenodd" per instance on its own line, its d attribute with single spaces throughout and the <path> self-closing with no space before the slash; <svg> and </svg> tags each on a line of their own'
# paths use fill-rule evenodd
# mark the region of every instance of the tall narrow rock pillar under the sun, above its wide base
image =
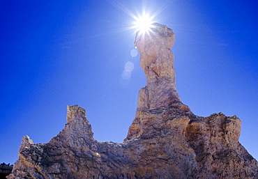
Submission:
<svg viewBox="0 0 258 179">
<path fill-rule="evenodd" d="M 148 33 L 137 33 L 135 46 L 140 56 L 147 83 L 139 91 L 137 111 L 169 107 L 181 102 L 176 91 L 174 54 L 175 35 L 165 25 L 153 23 Z"/>
</svg>

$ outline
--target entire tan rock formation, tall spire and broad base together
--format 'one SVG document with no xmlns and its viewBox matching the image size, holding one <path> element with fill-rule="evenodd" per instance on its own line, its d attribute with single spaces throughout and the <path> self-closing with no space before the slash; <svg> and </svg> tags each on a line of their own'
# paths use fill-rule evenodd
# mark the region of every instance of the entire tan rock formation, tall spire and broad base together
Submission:
<svg viewBox="0 0 258 179">
<path fill-rule="evenodd" d="M 93 139 L 86 112 L 68 106 L 67 124 L 49 143 L 22 139 L 8 178 L 258 178 L 239 143 L 241 120 L 195 116 L 176 91 L 172 29 L 153 24 L 135 45 L 147 84 L 123 143 Z"/>
</svg>

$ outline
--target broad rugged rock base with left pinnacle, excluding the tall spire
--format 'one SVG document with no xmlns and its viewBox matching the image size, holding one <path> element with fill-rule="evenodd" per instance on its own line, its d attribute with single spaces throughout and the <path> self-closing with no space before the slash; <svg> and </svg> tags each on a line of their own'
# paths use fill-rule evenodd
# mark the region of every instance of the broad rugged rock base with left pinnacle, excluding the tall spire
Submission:
<svg viewBox="0 0 258 179">
<path fill-rule="evenodd" d="M 22 139 L 8 178 L 258 177 L 257 161 L 238 142 L 236 116 L 204 118 L 176 107 L 141 111 L 137 136 L 114 143 L 93 139 L 81 107 L 68 107 L 68 115 L 73 120 L 49 143 Z"/>
</svg>

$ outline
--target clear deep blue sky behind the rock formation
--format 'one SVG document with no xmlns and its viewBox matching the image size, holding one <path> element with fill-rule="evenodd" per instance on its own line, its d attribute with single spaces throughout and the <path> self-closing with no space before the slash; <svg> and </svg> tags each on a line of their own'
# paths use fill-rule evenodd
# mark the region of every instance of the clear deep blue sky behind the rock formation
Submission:
<svg viewBox="0 0 258 179">
<path fill-rule="evenodd" d="M 254 1 L 147 1 L 174 29 L 176 86 L 198 116 L 242 120 L 241 143 L 258 158 L 258 13 Z M 122 142 L 146 84 L 132 17 L 142 1 L 0 2 L 0 162 L 13 164 L 24 135 L 47 143 L 66 105 L 86 109 L 99 141 Z M 130 61 L 130 63 L 127 63 Z M 123 73 L 125 64 L 134 69 Z M 132 66 L 130 66 L 132 67 Z"/>
</svg>

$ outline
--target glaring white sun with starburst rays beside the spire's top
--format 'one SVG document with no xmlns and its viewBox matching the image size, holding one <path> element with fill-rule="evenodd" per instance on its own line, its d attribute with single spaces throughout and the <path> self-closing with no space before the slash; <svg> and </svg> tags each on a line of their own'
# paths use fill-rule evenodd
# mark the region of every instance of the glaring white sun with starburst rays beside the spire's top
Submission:
<svg viewBox="0 0 258 179">
<path fill-rule="evenodd" d="M 145 34 L 149 33 L 151 31 L 151 24 L 153 24 L 153 17 L 150 17 L 149 15 L 146 15 L 145 13 L 143 15 L 139 15 L 138 17 L 135 17 L 135 28 L 139 33 Z"/>
</svg>

